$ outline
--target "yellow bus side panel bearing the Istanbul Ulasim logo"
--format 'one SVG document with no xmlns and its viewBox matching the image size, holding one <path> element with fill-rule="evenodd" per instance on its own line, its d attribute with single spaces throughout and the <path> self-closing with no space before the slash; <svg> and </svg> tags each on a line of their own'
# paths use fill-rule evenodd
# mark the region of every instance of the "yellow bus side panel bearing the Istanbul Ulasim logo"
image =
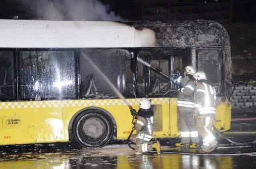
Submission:
<svg viewBox="0 0 256 169">
<path fill-rule="evenodd" d="M 62 107 L 54 101 L 2 102 L 0 144 L 68 141 Z"/>
</svg>

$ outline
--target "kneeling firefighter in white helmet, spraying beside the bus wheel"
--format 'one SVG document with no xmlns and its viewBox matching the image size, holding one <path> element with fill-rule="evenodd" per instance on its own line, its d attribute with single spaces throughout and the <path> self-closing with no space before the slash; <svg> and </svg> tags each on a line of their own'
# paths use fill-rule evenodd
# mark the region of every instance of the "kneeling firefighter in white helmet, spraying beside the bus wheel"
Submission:
<svg viewBox="0 0 256 169">
<path fill-rule="evenodd" d="M 140 108 L 138 113 L 134 109 L 131 110 L 132 115 L 137 116 L 135 121 L 136 134 L 133 134 L 130 137 L 130 141 L 136 143 L 136 154 L 152 151 L 153 149 L 160 154 L 159 141 L 150 141 L 153 136 L 154 115 L 154 112 L 150 108 L 150 100 L 148 100 L 148 98 L 142 98 L 140 99 Z"/>
</svg>

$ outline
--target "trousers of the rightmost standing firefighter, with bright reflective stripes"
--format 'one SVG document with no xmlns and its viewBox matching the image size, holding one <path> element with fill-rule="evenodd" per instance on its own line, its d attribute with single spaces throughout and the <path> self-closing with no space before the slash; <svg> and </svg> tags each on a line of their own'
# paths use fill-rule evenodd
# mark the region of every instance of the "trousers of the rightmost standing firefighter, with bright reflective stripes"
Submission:
<svg viewBox="0 0 256 169">
<path fill-rule="evenodd" d="M 212 134 L 212 125 L 214 119 L 209 116 L 198 116 L 196 118 L 196 129 L 203 139 L 203 145 L 214 147 L 218 144 Z"/>
</svg>

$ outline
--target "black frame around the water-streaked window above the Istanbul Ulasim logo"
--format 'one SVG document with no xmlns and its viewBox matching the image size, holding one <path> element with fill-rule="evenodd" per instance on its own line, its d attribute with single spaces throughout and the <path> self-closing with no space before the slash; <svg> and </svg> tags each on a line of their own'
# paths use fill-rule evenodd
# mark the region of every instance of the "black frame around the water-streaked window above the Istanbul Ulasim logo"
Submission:
<svg viewBox="0 0 256 169">
<path fill-rule="evenodd" d="M 20 51 L 74 51 L 74 68 L 75 68 L 75 96 L 74 97 L 63 97 L 61 100 L 70 100 L 70 99 L 77 99 L 78 98 L 78 55 L 77 55 L 77 48 L 16 48 L 16 56 L 17 56 L 17 77 L 18 79 L 20 79 L 19 77 L 19 73 L 20 73 Z M 34 100 L 34 98 L 20 98 L 20 83 L 18 80 L 18 84 L 17 84 L 17 95 L 18 95 L 18 100 L 19 101 L 31 101 Z M 49 97 L 49 98 L 41 98 L 40 100 L 60 100 L 60 98 L 58 97 Z"/>
</svg>

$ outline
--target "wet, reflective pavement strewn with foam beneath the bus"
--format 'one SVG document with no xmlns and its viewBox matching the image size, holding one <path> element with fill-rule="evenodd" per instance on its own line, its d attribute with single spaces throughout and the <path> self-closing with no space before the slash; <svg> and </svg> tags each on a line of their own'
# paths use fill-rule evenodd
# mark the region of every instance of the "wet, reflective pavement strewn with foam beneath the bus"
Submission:
<svg viewBox="0 0 256 169">
<path fill-rule="evenodd" d="M 252 140 L 254 135 L 232 136 Z M 244 140 L 244 139 L 242 139 Z M 177 140 L 160 140 L 162 149 L 168 149 Z M 255 148 L 255 147 L 254 147 Z M 240 148 L 242 151 L 243 148 Z M 229 150 L 225 150 L 228 152 Z M 241 153 L 241 152 L 240 152 Z M 0 146 L 0 169 L 233 169 L 256 168 L 256 153 L 236 155 L 187 155 L 147 153 L 135 155 L 124 142 L 112 141 L 102 148 L 85 149 L 74 143 L 31 144 Z"/>
</svg>

